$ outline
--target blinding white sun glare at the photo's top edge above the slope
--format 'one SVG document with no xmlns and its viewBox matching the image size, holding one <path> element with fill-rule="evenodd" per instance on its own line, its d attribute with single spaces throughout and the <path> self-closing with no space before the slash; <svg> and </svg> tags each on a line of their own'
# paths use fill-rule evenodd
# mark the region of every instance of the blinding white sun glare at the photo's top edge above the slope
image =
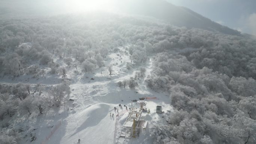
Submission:
<svg viewBox="0 0 256 144">
<path fill-rule="evenodd" d="M 73 12 L 111 10 L 113 0 L 65 0 L 65 5 Z"/>
</svg>

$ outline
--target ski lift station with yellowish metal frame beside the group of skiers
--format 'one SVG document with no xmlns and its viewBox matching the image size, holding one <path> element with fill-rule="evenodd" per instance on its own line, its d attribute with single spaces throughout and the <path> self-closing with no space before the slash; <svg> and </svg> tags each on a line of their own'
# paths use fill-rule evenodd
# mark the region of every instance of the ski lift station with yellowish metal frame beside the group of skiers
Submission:
<svg viewBox="0 0 256 144">
<path fill-rule="evenodd" d="M 140 106 L 131 108 L 129 116 L 123 125 L 125 132 L 133 138 L 138 137 L 143 130 L 146 131 L 148 123 L 146 120 L 141 120 L 141 114 L 144 108 L 146 108 L 146 101 L 137 101 L 137 105 Z M 125 138 L 124 135 L 120 135 L 120 137 Z"/>
</svg>

